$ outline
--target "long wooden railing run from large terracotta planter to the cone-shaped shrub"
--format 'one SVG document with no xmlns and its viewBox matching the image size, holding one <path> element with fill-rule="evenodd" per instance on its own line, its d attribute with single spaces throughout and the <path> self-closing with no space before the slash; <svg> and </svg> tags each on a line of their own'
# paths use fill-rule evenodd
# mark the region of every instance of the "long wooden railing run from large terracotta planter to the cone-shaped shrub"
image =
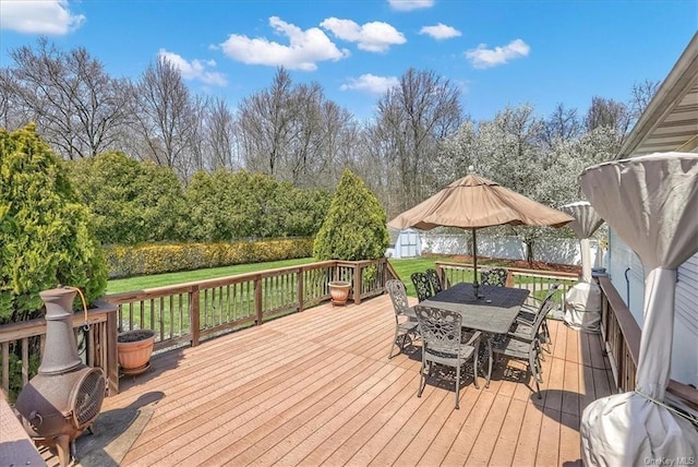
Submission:
<svg viewBox="0 0 698 467">
<path fill-rule="evenodd" d="M 383 294 L 386 260 L 325 261 L 239 274 L 217 279 L 132 292 L 104 299 L 118 307 L 120 331 L 149 328 L 155 350 L 198 342 L 220 333 L 262 324 L 329 299 L 330 280 L 347 280 L 350 300 Z"/>
</svg>

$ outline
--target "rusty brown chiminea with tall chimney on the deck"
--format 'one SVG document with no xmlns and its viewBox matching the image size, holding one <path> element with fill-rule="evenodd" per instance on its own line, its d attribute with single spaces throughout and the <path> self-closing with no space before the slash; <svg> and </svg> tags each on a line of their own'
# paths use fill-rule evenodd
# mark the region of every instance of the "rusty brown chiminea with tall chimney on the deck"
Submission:
<svg viewBox="0 0 698 467">
<path fill-rule="evenodd" d="M 72 326 L 75 294 L 68 287 L 39 292 L 46 304 L 44 356 L 38 374 L 15 404 L 25 430 L 37 444 L 56 446 L 61 466 L 69 465 L 73 441 L 99 415 L 106 390 L 101 369 L 85 366 L 77 355 Z"/>
</svg>

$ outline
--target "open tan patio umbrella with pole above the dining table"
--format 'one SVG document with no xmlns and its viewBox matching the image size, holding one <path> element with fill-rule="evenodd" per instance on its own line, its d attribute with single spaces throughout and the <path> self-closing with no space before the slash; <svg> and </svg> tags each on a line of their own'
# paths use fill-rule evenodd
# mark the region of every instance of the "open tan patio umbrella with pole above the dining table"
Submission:
<svg viewBox="0 0 698 467">
<path fill-rule="evenodd" d="M 388 226 L 431 230 L 459 227 L 472 231 L 472 262 L 478 287 L 478 243 L 476 230 L 501 225 L 562 227 L 574 220 L 554 209 L 498 183 L 469 173 L 438 193 L 395 217 Z"/>
</svg>

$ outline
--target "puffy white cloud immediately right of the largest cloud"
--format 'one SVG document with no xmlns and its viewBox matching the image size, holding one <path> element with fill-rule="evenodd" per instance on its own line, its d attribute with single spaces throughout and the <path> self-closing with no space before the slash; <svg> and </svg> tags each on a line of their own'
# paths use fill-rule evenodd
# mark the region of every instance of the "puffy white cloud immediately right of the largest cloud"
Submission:
<svg viewBox="0 0 698 467">
<path fill-rule="evenodd" d="M 390 46 L 405 44 L 407 39 L 395 27 L 383 22 L 372 22 L 359 25 L 351 20 L 328 17 L 320 23 L 322 27 L 332 32 L 336 37 L 357 43 L 359 49 L 370 52 L 384 52 Z"/>
</svg>

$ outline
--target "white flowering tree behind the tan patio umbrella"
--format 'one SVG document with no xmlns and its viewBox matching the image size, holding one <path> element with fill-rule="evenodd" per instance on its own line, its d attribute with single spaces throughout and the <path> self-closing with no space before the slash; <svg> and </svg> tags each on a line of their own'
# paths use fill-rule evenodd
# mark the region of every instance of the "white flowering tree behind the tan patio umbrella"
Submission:
<svg viewBox="0 0 698 467">
<path fill-rule="evenodd" d="M 613 158 L 618 148 L 617 131 L 598 127 L 581 134 L 556 133 L 529 105 L 507 107 L 493 120 L 477 125 L 466 121 L 441 145 L 436 164 L 440 187 L 434 190 L 465 176 L 472 166 L 478 175 L 549 206 L 579 201 L 578 176 L 586 167 Z M 539 239 L 573 236 L 569 229 L 549 227 L 505 226 L 500 230 L 521 239 L 528 261 L 533 261 Z"/>
</svg>

